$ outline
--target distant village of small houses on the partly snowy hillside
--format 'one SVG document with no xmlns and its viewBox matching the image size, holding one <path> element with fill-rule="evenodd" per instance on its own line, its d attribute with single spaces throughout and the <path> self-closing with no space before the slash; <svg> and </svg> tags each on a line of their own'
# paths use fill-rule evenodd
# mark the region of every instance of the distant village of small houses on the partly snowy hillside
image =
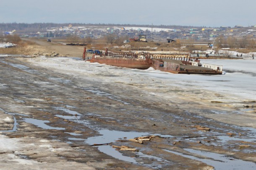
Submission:
<svg viewBox="0 0 256 170">
<path fill-rule="evenodd" d="M 76 35 L 80 38 L 91 37 L 99 39 L 109 34 L 115 34 L 119 37 L 127 37 L 133 39 L 144 35 L 146 41 L 172 41 L 175 39 L 193 39 L 196 41 L 208 41 L 222 35 L 223 37 L 243 37 L 251 36 L 256 38 L 256 26 L 243 27 L 221 26 L 219 28 L 155 28 L 139 27 L 139 26 L 59 26 L 53 28 L 40 28 L 36 33 L 18 33 L 16 30 L 2 31 L 3 34 L 17 33 L 21 37 L 47 37 L 58 38 Z"/>
</svg>

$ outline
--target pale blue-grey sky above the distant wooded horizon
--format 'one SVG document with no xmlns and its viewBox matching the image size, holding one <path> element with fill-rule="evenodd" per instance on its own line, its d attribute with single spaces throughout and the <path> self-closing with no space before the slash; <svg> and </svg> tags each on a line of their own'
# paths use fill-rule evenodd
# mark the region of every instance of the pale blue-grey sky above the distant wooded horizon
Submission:
<svg viewBox="0 0 256 170">
<path fill-rule="evenodd" d="M 1 0 L 0 23 L 254 26 L 255 0 Z"/>
</svg>

